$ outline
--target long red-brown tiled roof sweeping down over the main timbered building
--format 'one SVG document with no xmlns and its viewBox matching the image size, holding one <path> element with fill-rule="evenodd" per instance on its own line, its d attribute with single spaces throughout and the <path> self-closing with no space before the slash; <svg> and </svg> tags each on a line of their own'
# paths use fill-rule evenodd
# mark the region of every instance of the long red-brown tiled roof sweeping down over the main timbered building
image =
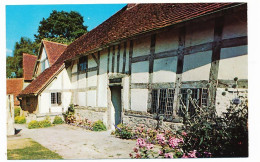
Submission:
<svg viewBox="0 0 260 162">
<path fill-rule="evenodd" d="M 40 74 L 21 94 L 35 94 L 48 83 L 65 60 L 112 42 L 188 21 L 235 3 L 163 3 L 128 5 L 105 22 L 71 43 L 49 69 Z"/>
</svg>

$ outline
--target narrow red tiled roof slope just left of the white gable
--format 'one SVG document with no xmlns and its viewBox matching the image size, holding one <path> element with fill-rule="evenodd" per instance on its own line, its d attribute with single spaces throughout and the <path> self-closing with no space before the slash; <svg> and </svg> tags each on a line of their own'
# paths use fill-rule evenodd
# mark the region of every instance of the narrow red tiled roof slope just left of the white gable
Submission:
<svg viewBox="0 0 260 162">
<path fill-rule="evenodd" d="M 23 53 L 23 78 L 24 80 L 32 80 L 34 66 L 37 56 Z"/>
</svg>

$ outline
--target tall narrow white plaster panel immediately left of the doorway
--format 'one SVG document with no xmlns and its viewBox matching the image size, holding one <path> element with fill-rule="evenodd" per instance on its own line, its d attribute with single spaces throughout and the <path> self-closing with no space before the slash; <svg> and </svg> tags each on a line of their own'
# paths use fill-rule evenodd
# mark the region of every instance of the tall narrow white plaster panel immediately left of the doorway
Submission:
<svg viewBox="0 0 260 162">
<path fill-rule="evenodd" d="M 98 106 L 107 107 L 107 75 L 99 75 L 98 79 Z"/>
</svg>

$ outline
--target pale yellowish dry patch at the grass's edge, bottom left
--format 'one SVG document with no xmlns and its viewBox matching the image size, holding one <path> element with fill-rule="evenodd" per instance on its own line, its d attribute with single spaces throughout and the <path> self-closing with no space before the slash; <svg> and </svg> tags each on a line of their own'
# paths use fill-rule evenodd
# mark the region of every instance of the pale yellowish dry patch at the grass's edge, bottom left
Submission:
<svg viewBox="0 0 260 162">
<path fill-rule="evenodd" d="M 10 139 L 7 141 L 7 149 L 22 149 L 25 147 L 32 146 L 32 140 L 29 138 L 25 139 Z"/>
</svg>

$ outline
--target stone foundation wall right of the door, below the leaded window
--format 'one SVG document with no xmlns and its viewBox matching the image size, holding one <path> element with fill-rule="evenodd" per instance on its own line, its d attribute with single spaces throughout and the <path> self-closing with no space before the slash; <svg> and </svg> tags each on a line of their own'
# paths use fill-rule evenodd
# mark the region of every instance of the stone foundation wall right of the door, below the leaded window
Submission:
<svg viewBox="0 0 260 162">
<path fill-rule="evenodd" d="M 143 126 L 145 128 L 156 129 L 157 126 L 162 129 L 171 129 L 171 130 L 179 130 L 182 128 L 182 123 L 174 123 L 174 122 L 159 122 L 158 120 L 153 119 L 150 116 L 143 115 L 124 115 L 123 116 L 123 124 L 128 125 L 132 128 L 136 128 L 139 126 Z"/>
</svg>

